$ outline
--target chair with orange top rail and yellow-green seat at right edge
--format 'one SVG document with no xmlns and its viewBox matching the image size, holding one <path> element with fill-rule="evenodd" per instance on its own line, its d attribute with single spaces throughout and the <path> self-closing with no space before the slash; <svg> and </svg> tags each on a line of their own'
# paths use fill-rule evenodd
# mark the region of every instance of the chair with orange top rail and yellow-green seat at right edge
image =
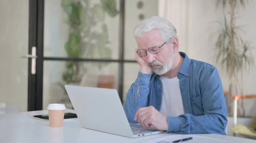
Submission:
<svg viewBox="0 0 256 143">
<path fill-rule="evenodd" d="M 237 125 L 237 103 L 241 99 L 256 98 L 256 95 L 235 95 L 233 96 L 233 119 L 234 128 L 232 132 L 234 135 L 242 135 L 251 139 L 256 139 L 256 116 L 250 121 L 249 125 Z"/>
</svg>

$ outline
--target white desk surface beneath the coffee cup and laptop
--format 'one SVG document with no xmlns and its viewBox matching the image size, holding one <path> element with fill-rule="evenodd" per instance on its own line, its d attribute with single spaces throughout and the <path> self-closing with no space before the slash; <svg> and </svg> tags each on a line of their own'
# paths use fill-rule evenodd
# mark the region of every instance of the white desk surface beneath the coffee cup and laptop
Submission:
<svg viewBox="0 0 256 143">
<path fill-rule="evenodd" d="M 74 110 L 66 109 L 66 112 Z M 47 110 L 0 115 L 0 143 L 141 143 L 168 135 L 162 133 L 138 138 L 128 138 L 81 128 L 77 119 L 64 121 L 61 128 L 50 128 L 49 122 L 30 118 L 32 115 L 47 114 Z M 199 134 L 232 143 L 256 143 L 256 140 L 215 134 Z"/>
</svg>

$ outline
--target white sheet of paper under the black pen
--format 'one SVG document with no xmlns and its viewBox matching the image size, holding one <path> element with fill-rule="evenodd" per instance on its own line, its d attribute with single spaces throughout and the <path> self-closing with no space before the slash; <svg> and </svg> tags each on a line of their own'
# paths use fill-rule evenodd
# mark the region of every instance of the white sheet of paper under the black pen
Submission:
<svg viewBox="0 0 256 143">
<path fill-rule="evenodd" d="M 149 140 L 144 143 L 172 143 L 175 140 L 180 140 L 187 137 L 193 137 L 193 139 L 186 140 L 181 143 L 230 143 L 227 140 L 220 140 L 212 137 L 203 137 L 199 135 L 170 135 L 168 137 L 160 137 L 154 140 Z"/>
</svg>

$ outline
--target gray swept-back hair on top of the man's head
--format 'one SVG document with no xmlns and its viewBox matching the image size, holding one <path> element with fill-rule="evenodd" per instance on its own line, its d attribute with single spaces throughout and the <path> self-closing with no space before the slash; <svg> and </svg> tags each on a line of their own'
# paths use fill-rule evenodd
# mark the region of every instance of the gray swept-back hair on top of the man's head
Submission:
<svg viewBox="0 0 256 143">
<path fill-rule="evenodd" d="M 158 29 L 160 31 L 164 42 L 169 43 L 174 37 L 178 39 L 176 28 L 172 23 L 158 16 L 149 17 L 141 21 L 134 28 L 134 36 L 135 38 L 143 37 L 144 34 L 153 29 Z"/>
</svg>

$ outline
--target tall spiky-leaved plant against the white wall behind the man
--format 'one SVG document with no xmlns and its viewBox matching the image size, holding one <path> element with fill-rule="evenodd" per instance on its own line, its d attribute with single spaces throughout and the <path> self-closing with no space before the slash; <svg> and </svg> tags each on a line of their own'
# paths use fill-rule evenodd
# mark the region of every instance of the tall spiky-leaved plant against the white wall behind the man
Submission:
<svg viewBox="0 0 256 143">
<path fill-rule="evenodd" d="M 236 24 L 236 10 L 240 7 L 245 8 L 247 0 L 217 0 L 217 6 L 223 8 L 224 22 L 218 22 L 221 30 L 218 33 L 218 39 L 215 42 L 215 50 L 217 52 L 216 62 L 220 63 L 226 69 L 229 76 L 229 96 L 227 100 L 229 115 L 232 114 L 233 100 L 232 96 L 239 94 L 243 95 L 242 82 L 238 83 L 239 74 L 242 78 L 244 70 L 250 70 L 254 67 L 254 59 L 251 54 L 252 48 L 250 42 L 241 37 L 239 34 L 242 31 L 241 26 Z M 228 12 L 227 9 L 230 8 Z M 226 16 L 226 14 L 229 16 Z M 241 80 L 242 81 L 242 80 Z M 244 116 L 243 101 L 241 102 L 241 109 Z"/>
</svg>

